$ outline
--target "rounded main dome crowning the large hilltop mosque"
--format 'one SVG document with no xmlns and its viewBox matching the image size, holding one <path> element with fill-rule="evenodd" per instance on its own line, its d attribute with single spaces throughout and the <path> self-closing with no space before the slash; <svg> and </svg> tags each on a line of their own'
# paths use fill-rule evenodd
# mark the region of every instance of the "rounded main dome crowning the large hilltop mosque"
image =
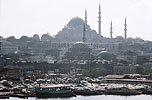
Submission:
<svg viewBox="0 0 152 100">
<path fill-rule="evenodd" d="M 75 17 L 75 18 L 72 18 L 70 20 L 70 22 L 68 23 L 68 26 L 79 26 L 79 25 L 84 25 L 84 21 L 79 18 L 79 17 Z"/>
</svg>

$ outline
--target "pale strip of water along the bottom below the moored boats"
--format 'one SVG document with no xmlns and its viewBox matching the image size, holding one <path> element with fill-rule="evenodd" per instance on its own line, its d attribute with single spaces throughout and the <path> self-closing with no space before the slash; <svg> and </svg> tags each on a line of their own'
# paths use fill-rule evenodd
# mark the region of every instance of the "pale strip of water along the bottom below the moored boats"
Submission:
<svg viewBox="0 0 152 100">
<path fill-rule="evenodd" d="M 13 98 L 5 100 L 152 100 L 152 95 L 136 95 L 136 96 L 117 96 L 117 95 L 98 95 L 98 96 L 77 96 L 72 98 L 47 98 L 47 99 L 37 99 L 37 98 Z"/>
</svg>

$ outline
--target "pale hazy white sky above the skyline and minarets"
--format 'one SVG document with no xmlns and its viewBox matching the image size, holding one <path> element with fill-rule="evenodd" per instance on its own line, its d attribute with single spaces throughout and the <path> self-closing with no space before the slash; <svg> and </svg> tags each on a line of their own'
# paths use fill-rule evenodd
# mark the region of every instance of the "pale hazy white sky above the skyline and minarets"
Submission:
<svg viewBox="0 0 152 100">
<path fill-rule="evenodd" d="M 98 31 L 98 6 L 102 11 L 102 35 L 124 36 L 127 18 L 128 37 L 152 40 L 152 0 L 1 0 L 0 35 L 40 36 L 46 32 L 57 34 L 73 17 L 84 19 Z"/>
</svg>

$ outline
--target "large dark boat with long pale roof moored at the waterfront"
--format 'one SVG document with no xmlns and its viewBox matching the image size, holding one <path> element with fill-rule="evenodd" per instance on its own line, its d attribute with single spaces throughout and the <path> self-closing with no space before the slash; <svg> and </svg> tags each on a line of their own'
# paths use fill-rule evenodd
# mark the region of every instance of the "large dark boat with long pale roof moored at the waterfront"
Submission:
<svg viewBox="0 0 152 100">
<path fill-rule="evenodd" d="M 35 88 L 37 98 L 66 98 L 76 96 L 70 85 L 46 85 Z"/>
</svg>

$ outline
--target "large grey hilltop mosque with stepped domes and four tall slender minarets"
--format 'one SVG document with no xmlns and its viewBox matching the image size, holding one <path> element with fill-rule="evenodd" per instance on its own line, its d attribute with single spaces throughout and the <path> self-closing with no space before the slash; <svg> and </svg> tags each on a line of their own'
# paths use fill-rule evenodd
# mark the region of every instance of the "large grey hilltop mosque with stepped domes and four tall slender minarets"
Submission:
<svg viewBox="0 0 152 100">
<path fill-rule="evenodd" d="M 105 43 L 106 40 L 101 34 L 101 7 L 99 4 L 98 12 L 98 33 L 92 30 L 87 24 L 87 10 L 85 10 L 85 19 L 75 17 L 55 36 L 56 42 L 75 43 L 77 41 L 84 41 L 86 43 Z M 110 25 L 110 38 L 113 38 L 112 22 Z M 125 18 L 124 24 L 124 39 L 127 39 L 127 21 Z"/>
</svg>

